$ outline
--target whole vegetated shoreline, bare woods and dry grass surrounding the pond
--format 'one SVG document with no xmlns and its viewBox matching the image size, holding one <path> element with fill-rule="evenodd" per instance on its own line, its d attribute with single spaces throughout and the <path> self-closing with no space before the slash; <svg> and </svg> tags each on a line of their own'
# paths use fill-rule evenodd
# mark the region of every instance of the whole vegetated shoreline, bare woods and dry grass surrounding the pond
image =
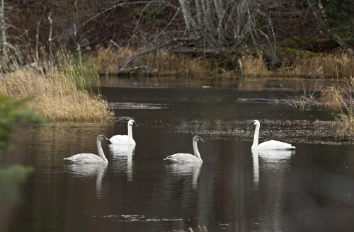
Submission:
<svg viewBox="0 0 354 232">
<path fill-rule="evenodd" d="M 113 119 L 100 74 L 344 79 L 322 100 L 353 101 L 350 0 L 1 0 L 0 25 L 0 93 L 53 121 Z"/>
</svg>

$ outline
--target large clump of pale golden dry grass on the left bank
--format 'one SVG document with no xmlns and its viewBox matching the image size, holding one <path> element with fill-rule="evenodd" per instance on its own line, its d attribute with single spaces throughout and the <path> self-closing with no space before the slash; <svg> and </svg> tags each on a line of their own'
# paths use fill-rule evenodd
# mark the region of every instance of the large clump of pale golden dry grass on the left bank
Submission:
<svg viewBox="0 0 354 232">
<path fill-rule="evenodd" d="M 29 105 L 54 122 L 102 122 L 113 112 L 101 95 L 79 90 L 72 76 L 55 70 L 43 74 L 35 69 L 18 69 L 0 78 L 0 93 L 30 98 Z"/>
</svg>

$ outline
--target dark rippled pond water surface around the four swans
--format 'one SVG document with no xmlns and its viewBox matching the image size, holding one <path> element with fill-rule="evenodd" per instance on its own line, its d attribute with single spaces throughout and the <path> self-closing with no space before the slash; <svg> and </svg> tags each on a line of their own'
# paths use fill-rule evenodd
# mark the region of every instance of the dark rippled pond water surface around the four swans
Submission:
<svg viewBox="0 0 354 232">
<path fill-rule="evenodd" d="M 115 81 L 101 88 L 118 116 L 113 124 L 33 127 L 0 153 L 1 166 L 34 168 L 0 220 L 4 231 L 353 231 L 353 138 L 333 133 L 332 112 L 237 100 L 298 94 L 291 86 Z M 137 145 L 103 141 L 108 166 L 64 164 L 97 153 L 98 134 L 126 134 L 130 118 Z M 260 141 L 296 151 L 252 153 L 254 119 Z M 166 165 L 166 156 L 193 153 L 195 134 L 205 140 L 202 165 Z"/>
</svg>

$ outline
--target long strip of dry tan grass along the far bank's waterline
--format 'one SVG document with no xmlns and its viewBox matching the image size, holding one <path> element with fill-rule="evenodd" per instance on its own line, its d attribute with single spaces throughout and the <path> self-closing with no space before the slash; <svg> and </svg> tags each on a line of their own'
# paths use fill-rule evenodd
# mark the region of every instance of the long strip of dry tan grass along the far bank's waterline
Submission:
<svg viewBox="0 0 354 232">
<path fill-rule="evenodd" d="M 135 51 L 131 47 L 107 47 L 100 48 L 91 61 L 104 74 L 112 74 L 120 70 L 127 59 L 134 57 L 144 50 Z M 247 53 L 247 52 L 246 52 Z M 157 50 L 154 64 L 154 52 L 149 52 L 136 57 L 125 68 L 134 66 L 152 67 L 154 74 L 161 75 L 184 75 L 197 78 L 208 78 L 210 76 L 222 76 L 232 78 L 239 74 L 240 70 L 226 70 L 220 64 L 219 59 L 204 58 L 202 54 L 180 54 Z M 236 59 L 235 59 L 236 60 Z M 312 54 L 294 57 L 291 65 L 289 62 L 283 64 L 279 69 L 268 69 L 262 57 L 244 55 L 241 57 L 242 74 L 245 76 L 301 76 L 307 78 L 331 78 L 341 79 L 354 76 L 354 59 L 344 52 L 335 54 Z M 236 64 L 235 64 L 236 66 Z"/>
</svg>

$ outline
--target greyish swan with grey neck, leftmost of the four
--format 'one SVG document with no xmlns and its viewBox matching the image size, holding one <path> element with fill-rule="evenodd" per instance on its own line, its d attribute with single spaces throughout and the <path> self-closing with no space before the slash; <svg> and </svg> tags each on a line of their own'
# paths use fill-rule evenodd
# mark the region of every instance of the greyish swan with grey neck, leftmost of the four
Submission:
<svg viewBox="0 0 354 232">
<path fill-rule="evenodd" d="M 105 154 L 103 153 L 101 141 L 108 140 L 104 135 L 100 134 L 97 137 L 97 149 L 98 155 L 92 153 L 79 153 L 75 156 L 71 156 L 69 158 L 64 158 L 64 161 L 69 163 L 108 163 L 107 158 L 105 158 Z"/>
</svg>

